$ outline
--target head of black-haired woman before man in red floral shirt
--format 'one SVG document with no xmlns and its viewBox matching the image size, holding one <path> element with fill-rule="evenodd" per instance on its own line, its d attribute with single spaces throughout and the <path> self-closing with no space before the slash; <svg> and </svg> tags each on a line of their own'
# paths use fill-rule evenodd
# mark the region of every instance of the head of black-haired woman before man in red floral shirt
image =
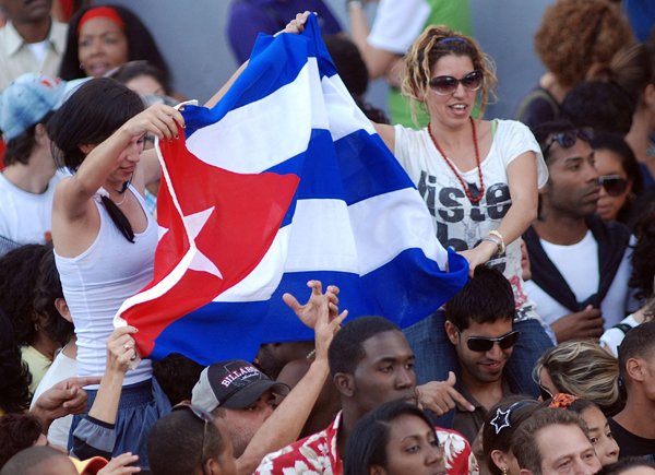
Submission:
<svg viewBox="0 0 655 475">
<path fill-rule="evenodd" d="M 444 473 L 434 425 L 417 406 L 383 404 L 364 416 L 348 437 L 344 475 Z"/>
</svg>

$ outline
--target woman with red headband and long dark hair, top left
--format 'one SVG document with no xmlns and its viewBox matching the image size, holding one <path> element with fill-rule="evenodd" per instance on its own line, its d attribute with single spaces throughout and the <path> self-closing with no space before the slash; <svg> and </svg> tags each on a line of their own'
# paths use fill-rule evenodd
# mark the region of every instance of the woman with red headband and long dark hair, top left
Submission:
<svg viewBox="0 0 655 475">
<path fill-rule="evenodd" d="M 71 19 L 59 76 L 99 78 L 128 61 L 146 60 L 168 75 L 155 40 L 124 7 L 82 9 Z"/>
</svg>

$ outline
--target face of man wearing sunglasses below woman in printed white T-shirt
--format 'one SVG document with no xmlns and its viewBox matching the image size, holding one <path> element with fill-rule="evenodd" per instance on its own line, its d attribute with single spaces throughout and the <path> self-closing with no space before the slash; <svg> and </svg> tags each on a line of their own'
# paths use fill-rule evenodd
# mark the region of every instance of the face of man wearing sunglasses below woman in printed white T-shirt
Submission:
<svg viewBox="0 0 655 475">
<path fill-rule="evenodd" d="M 502 377 L 502 370 L 512 355 L 513 347 L 503 349 L 498 342 L 487 352 L 474 352 L 468 347 L 468 339 L 486 337 L 500 339 L 512 332 L 512 319 L 498 320 L 493 323 L 471 322 L 462 333 L 455 325 L 446 321 L 445 331 L 457 352 L 462 371 L 473 376 L 480 382 L 489 383 L 498 381 Z"/>
</svg>

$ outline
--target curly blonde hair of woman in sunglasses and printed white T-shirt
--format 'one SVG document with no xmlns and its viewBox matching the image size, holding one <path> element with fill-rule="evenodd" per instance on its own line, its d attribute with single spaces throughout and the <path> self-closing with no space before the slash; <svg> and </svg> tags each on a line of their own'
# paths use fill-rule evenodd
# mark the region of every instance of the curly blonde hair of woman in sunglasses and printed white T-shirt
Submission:
<svg viewBox="0 0 655 475">
<path fill-rule="evenodd" d="M 462 41 L 443 41 L 448 38 L 457 38 Z M 480 87 L 480 117 L 489 105 L 489 97 L 496 98 L 495 91 L 498 86 L 496 67 L 491 57 L 483 52 L 477 41 L 466 35 L 453 32 L 448 26 L 428 26 L 414 41 L 404 59 L 405 72 L 402 92 L 409 98 L 412 120 L 417 127 L 416 103 L 418 102 L 421 107 L 425 107 L 420 96 L 428 94 L 432 69 L 441 58 L 450 55 L 467 56 L 473 62 L 473 69 L 483 71 L 485 80 Z"/>
</svg>

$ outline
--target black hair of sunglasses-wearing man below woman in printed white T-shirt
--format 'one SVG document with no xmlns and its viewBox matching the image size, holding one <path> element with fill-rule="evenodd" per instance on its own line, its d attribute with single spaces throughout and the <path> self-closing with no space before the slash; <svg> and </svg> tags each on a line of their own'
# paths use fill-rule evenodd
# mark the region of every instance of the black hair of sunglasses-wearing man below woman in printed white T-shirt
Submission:
<svg viewBox="0 0 655 475">
<path fill-rule="evenodd" d="M 461 331 L 476 323 L 513 320 L 515 313 L 512 284 L 498 269 L 478 265 L 473 278 L 445 304 L 445 318 Z"/>
</svg>

